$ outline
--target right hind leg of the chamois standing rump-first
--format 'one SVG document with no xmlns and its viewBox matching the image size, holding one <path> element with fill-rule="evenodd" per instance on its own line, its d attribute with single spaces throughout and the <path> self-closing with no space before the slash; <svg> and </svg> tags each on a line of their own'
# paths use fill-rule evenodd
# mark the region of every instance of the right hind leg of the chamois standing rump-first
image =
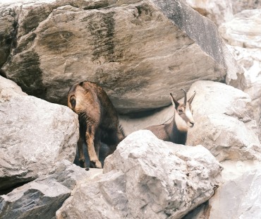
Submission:
<svg viewBox="0 0 261 219">
<path fill-rule="evenodd" d="M 97 158 L 97 154 L 95 152 L 95 128 L 90 127 L 87 128 L 86 131 L 86 143 L 87 143 L 87 151 L 90 158 L 90 167 L 102 168 L 102 163 L 99 162 Z"/>
</svg>

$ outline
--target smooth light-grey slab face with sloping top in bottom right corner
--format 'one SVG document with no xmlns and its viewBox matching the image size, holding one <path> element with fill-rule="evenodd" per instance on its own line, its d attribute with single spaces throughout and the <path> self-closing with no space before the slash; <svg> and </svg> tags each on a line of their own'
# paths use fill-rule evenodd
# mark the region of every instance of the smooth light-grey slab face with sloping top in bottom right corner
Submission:
<svg viewBox="0 0 261 219">
<path fill-rule="evenodd" d="M 210 201 L 210 218 L 260 218 L 260 179 L 261 170 L 257 169 L 226 182 Z"/>
</svg>

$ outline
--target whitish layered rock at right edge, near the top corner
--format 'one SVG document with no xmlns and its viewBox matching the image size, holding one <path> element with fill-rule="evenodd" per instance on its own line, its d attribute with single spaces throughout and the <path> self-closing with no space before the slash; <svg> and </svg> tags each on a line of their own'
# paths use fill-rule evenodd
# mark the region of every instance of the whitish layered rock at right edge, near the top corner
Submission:
<svg viewBox="0 0 261 219">
<path fill-rule="evenodd" d="M 245 10 L 219 27 L 229 45 L 261 48 L 261 9 Z"/>
</svg>

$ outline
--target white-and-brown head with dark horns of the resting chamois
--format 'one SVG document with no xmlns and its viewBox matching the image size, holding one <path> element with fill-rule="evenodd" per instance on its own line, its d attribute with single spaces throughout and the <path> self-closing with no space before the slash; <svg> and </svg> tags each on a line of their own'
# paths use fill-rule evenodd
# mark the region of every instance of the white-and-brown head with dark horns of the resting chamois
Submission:
<svg viewBox="0 0 261 219">
<path fill-rule="evenodd" d="M 184 89 L 183 90 L 185 96 L 184 96 L 184 102 L 179 103 L 175 98 L 173 97 L 172 93 L 171 95 L 171 102 L 174 105 L 175 108 L 175 115 L 174 119 L 176 122 L 176 126 L 178 130 L 180 131 L 188 131 L 189 128 L 192 128 L 195 124 L 193 119 L 193 109 L 191 107 L 191 103 L 195 97 L 195 91 L 194 94 L 187 100 L 187 93 Z"/>
</svg>

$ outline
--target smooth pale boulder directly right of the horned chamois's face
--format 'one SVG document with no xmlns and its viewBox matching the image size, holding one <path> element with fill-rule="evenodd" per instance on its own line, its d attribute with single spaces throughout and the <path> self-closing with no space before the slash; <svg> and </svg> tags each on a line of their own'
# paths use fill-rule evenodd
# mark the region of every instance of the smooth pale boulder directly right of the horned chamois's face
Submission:
<svg viewBox="0 0 261 219">
<path fill-rule="evenodd" d="M 260 159 L 261 145 L 249 95 L 212 81 L 193 83 L 188 95 L 194 90 L 195 126 L 188 132 L 187 144 L 202 144 L 219 161 Z"/>
</svg>

